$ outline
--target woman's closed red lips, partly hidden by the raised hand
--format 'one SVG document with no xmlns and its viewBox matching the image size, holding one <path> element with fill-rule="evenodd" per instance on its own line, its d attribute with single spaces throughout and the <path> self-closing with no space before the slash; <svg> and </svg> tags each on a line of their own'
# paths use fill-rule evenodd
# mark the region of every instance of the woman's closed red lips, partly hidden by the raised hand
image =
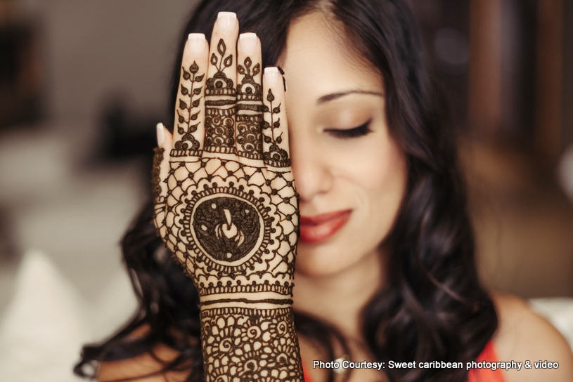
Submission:
<svg viewBox="0 0 573 382">
<path fill-rule="evenodd" d="M 323 242 L 344 227 L 352 210 L 300 217 L 300 239 L 307 243 Z"/>
</svg>

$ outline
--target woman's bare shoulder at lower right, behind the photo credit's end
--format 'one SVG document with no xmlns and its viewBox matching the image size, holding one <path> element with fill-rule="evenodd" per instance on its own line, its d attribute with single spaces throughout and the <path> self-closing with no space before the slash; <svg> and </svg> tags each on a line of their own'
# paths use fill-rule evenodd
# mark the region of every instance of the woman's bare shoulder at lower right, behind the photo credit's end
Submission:
<svg viewBox="0 0 573 382">
<path fill-rule="evenodd" d="M 543 317 L 536 315 L 521 298 L 492 295 L 499 316 L 494 343 L 499 361 L 523 362 L 520 371 L 506 373 L 513 381 L 573 381 L 573 354 L 565 338 Z M 526 361 L 531 369 L 526 369 Z M 558 362 L 557 369 L 535 366 L 536 362 Z"/>
</svg>

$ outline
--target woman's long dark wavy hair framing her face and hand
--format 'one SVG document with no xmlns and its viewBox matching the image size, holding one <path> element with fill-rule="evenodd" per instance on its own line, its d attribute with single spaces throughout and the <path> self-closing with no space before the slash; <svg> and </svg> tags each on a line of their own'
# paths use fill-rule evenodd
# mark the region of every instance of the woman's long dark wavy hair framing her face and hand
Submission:
<svg viewBox="0 0 573 382">
<path fill-rule="evenodd" d="M 292 20 L 313 11 L 342 25 L 340 34 L 378 69 L 385 83 L 386 113 L 392 136 L 408 167 L 406 195 L 382 243 L 387 282 L 363 308 L 363 337 L 375 360 L 388 362 L 467 362 L 475 360 L 497 327 L 494 304 L 479 284 L 475 243 L 456 138 L 440 112 L 443 105 L 427 73 L 419 32 L 401 0 L 205 0 L 195 9 L 176 57 L 173 110 L 186 36 L 210 39 L 219 11 L 237 14 L 241 32 L 262 41 L 262 64 L 276 65 Z M 286 74 L 288 81 L 288 73 Z M 167 370 L 188 370 L 188 381 L 202 381 L 198 293 L 155 236 L 148 204 L 122 241 L 124 261 L 139 299 L 139 310 L 117 334 L 86 345 L 75 367 L 94 377 L 101 361 L 153 354 L 158 344 L 179 352 Z M 297 333 L 335 358 L 345 345 L 336 328 L 295 312 Z M 146 326 L 141 336 L 129 336 Z M 385 369 L 391 381 L 465 381 L 465 369 Z M 333 381 L 330 373 L 330 381 Z"/>
</svg>

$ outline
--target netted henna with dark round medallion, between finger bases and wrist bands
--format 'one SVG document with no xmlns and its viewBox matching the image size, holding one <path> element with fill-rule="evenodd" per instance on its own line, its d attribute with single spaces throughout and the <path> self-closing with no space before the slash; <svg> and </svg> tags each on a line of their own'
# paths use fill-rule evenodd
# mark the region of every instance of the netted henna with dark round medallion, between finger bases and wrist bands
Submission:
<svg viewBox="0 0 573 382">
<path fill-rule="evenodd" d="M 218 158 L 169 167 L 164 239 L 200 296 L 292 296 L 299 216 L 292 173 Z"/>
</svg>

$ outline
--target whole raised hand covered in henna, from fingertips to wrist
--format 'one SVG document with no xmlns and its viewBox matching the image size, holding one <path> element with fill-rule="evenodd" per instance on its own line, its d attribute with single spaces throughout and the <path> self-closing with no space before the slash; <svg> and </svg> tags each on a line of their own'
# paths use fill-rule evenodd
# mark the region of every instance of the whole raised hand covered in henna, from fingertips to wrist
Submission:
<svg viewBox="0 0 573 382">
<path fill-rule="evenodd" d="M 267 68 L 262 81 L 259 39 L 237 37 L 236 19 L 219 18 L 210 49 L 202 34 L 184 48 L 174 134 L 155 152 L 155 225 L 202 307 L 280 308 L 299 216 L 283 78 Z"/>
</svg>

